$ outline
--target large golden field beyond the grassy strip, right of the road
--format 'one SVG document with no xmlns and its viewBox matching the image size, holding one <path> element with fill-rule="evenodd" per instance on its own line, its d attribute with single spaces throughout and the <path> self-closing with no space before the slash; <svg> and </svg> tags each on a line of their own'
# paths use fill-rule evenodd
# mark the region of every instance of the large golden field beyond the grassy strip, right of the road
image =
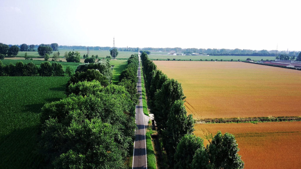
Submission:
<svg viewBox="0 0 301 169">
<path fill-rule="evenodd" d="M 243 62 L 154 61 L 194 118 L 301 115 L 301 71 Z"/>
</svg>

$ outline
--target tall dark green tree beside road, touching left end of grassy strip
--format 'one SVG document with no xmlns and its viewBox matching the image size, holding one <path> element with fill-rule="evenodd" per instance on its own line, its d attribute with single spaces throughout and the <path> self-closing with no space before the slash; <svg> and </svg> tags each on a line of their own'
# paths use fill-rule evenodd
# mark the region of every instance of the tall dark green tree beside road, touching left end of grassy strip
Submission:
<svg viewBox="0 0 301 169">
<path fill-rule="evenodd" d="M 162 131 L 162 140 L 169 158 L 169 166 L 172 166 L 175 161 L 174 154 L 177 145 L 185 134 L 192 134 L 194 131 L 194 119 L 192 115 L 186 115 L 187 111 L 183 100 L 177 100 L 170 109 L 166 128 Z"/>
</svg>

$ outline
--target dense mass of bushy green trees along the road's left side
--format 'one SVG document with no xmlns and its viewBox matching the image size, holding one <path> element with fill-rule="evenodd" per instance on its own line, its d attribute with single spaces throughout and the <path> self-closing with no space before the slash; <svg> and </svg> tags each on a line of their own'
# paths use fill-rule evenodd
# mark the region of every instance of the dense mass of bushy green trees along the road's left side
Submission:
<svg viewBox="0 0 301 169">
<path fill-rule="evenodd" d="M 135 95 L 122 83 L 111 84 L 110 63 L 101 62 L 80 66 L 68 97 L 42 108 L 41 168 L 126 168 L 135 140 Z"/>
</svg>

